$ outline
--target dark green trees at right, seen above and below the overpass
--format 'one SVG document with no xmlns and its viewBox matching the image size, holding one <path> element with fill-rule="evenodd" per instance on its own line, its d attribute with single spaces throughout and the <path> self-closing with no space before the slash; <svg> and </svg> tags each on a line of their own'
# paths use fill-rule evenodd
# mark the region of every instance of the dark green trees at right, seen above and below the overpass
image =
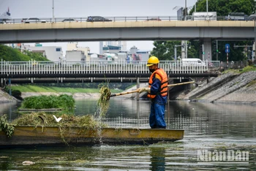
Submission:
<svg viewBox="0 0 256 171">
<path fill-rule="evenodd" d="M 197 12 L 206 12 L 206 0 L 197 1 Z M 193 7 L 189 15 L 192 15 L 195 7 Z M 244 12 L 246 15 L 255 12 L 255 1 L 254 0 L 208 0 L 208 11 L 217 12 L 218 18 L 221 20 L 225 19 L 225 16 L 229 12 Z M 200 57 L 200 42 L 190 40 L 191 47 L 188 50 L 189 58 Z M 225 53 L 225 44 L 230 44 L 230 61 L 245 60 L 243 48 L 234 48 L 236 45 L 252 45 L 252 41 L 218 41 L 218 60 L 225 61 L 227 54 Z M 173 60 L 174 57 L 174 45 L 181 45 L 180 41 L 155 41 L 153 44 L 155 47 L 151 51 L 151 55 L 159 57 L 159 60 Z M 214 47 L 214 39 L 212 40 L 212 47 Z M 214 48 L 212 48 L 214 49 Z M 177 56 L 181 56 L 181 48 L 177 48 Z M 212 52 L 213 60 L 217 60 L 216 51 Z"/>
</svg>

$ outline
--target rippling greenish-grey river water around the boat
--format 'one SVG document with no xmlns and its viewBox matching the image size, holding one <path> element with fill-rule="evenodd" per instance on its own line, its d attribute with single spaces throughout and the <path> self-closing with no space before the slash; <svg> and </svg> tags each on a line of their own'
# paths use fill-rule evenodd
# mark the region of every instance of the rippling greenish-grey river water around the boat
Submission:
<svg viewBox="0 0 256 171">
<path fill-rule="evenodd" d="M 75 114 L 94 114 L 96 103 L 97 99 L 76 99 Z M 0 104 L 0 115 L 7 114 L 11 121 L 18 106 Z M 148 101 L 113 98 L 105 122 L 111 127 L 149 128 L 149 110 Z M 256 106 L 249 104 L 168 102 L 167 129 L 184 129 L 183 140 L 1 149 L 0 170 L 256 170 L 255 111 Z M 23 161 L 34 164 L 23 165 Z"/>
</svg>

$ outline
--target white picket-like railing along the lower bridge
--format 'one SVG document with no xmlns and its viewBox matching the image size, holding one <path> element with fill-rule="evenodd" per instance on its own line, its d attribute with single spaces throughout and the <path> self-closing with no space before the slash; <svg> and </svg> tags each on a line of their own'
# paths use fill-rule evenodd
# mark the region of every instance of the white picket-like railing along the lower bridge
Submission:
<svg viewBox="0 0 256 171">
<path fill-rule="evenodd" d="M 219 66 L 219 61 L 214 61 Z M 151 74 L 147 61 L 3 61 L 1 75 L 23 74 Z M 181 61 L 160 61 L 159 67 L 170 73 L 203 73 L 209 61 L 184 66 Z M 213 64 L 211 62 L 211 64 Z M 218 67 L 217 66 L 217 67 Z"/>
</svg>

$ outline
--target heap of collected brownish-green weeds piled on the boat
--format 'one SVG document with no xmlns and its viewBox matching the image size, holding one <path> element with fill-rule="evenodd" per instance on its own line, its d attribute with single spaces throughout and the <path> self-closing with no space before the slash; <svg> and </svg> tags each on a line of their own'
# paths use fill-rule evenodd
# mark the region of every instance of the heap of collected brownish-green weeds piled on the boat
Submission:
<svg viewBox="0 0 256 171">
<path fill-rule="evenodd" d="M 44 112 L 27 113 L 20 115 L 12 123 L 8 123 L 7 115 L 3 115 L 0 117 L 0 131 L 5 132 L 7 137 L 12 137 L 12 134 L 15 132 L 15 126 L 33 126 L 34 128 L 42 126 L 42 129 L 45 126 L 57 126 L 59 127 L 61 137 L 63 137 L 65 131 L 72 127 L 80 128 L 81 130 L 99 130 L 103 127 L 108 127 L 105 123 L 96 121 L 93 115 L 75 116 L 63 114 L 56 115 L 56 118 L 61 118 L 61 120 L 57 122 L 53 115 Z"/>
</svg>

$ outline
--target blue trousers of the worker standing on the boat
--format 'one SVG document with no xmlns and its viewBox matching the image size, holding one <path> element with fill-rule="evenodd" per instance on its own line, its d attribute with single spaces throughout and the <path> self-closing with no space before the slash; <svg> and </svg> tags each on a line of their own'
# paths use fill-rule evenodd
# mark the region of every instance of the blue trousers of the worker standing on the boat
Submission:
<svg viewBox="0 0 256 171">
<path fill-rule="evenodd" d="M 165 104 L 151 102 L 151 112 L 149 115 L 149 125 L 151 129 L 165 129 Z"/>
</svg>

